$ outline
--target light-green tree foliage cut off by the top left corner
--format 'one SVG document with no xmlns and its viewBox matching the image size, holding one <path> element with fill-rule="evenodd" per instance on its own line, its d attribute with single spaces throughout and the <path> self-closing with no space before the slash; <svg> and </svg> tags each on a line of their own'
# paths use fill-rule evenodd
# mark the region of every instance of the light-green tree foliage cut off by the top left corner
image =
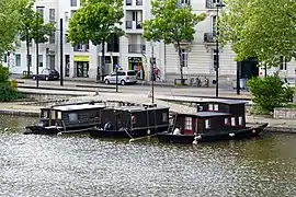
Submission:
<svg viewBox="0 0 296 197">
<path fill-rule="evenodd" d="M 0 59 L 5 51 L 15 47 L 16 35 L 21 26 L 21 10 L 26 0 L 1 0 L 0 1 Z"/>
</svg>

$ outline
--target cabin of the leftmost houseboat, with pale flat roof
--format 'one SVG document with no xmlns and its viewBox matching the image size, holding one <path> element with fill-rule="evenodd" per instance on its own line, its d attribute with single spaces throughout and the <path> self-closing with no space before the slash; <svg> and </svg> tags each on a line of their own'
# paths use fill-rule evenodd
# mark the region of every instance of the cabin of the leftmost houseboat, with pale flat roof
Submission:
<svg viewBox="0 0 296 197">
<path fill-rule="evenodd" d="M 41 124 L 44 127 L 83 128 L 100 124 L 101 112 L 105 105 L 71 104 L 41 108 Z"/>
</svg>

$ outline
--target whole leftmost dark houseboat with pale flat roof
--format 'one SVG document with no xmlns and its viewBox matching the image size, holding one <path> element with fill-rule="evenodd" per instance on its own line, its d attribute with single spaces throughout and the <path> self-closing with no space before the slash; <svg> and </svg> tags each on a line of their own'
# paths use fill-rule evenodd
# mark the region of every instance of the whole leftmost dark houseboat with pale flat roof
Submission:
<svg viewBox="0 0 296 197">
<path fill-rule="evenodd" d="M 105 105 L 65 104 L 41 108 L 37 125 L 26 126 L 24 135 L 57 135 L 86 132 L 89 128 L 100 125 L 101 112 Z"/>
</svg>

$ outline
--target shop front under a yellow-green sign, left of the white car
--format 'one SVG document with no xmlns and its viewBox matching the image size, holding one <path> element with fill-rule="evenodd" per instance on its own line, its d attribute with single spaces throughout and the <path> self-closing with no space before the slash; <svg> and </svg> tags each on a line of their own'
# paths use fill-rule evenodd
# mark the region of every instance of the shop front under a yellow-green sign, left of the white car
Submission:
<svg viewBox="0 0 296 197">
<path fill-rule="evenodd" d="M 90 57 L 76 55 L 73 59 L 75 59 L 75 68 L 76 68 L 75 76 L 77 78 L 89 78 Z"/>
</svg>

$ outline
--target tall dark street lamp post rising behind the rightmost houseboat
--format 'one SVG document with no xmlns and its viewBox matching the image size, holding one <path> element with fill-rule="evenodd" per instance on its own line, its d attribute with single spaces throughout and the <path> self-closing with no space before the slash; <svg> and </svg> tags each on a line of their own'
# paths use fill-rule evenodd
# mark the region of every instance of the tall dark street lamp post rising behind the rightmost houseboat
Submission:
<svg viewBox="0 0 296 197">
<path fill-rule="evenodd" d="M 217 11 L 217 16 L 216 16 L 216 62 L 214 61 L 214 68 L 216 70 L 216 97 L 219 96 L 219 9 L 221 9 L 223 7 L 225 7 L 225 4 L 221 3 L 221 1 L 219 3 L 216 4 L 216 11 Z"/>
</svg>

